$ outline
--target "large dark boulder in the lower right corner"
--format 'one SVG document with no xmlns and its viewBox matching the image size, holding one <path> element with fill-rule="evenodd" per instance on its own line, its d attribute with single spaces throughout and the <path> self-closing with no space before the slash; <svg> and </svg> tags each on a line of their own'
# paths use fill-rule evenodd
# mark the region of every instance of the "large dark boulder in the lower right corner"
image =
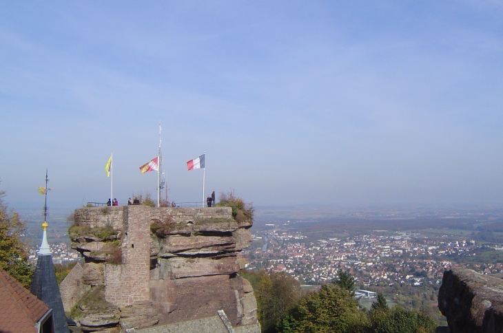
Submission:
<svg viewBox="0 0 503 333">
<path fill-rule="evenodd" d="M 438 308 L 452 333 L 503 332 L 503 280 L 466 268 L 447 270 Z"/>
</svg>

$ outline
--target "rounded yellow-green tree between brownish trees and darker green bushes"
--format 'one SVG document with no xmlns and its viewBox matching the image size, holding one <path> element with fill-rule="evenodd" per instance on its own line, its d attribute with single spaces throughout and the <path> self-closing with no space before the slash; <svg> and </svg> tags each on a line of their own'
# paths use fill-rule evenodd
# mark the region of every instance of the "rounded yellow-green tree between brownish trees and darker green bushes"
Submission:
<svg viewBox="0 0 503 333">
<path fill-rule="evenodd" d="M 288 310 L 278 321 L 278 332 L 367 332 L 367 314 L 360 310 L 351 292 L 329 283 L 312 292 Z"/>
</svg>

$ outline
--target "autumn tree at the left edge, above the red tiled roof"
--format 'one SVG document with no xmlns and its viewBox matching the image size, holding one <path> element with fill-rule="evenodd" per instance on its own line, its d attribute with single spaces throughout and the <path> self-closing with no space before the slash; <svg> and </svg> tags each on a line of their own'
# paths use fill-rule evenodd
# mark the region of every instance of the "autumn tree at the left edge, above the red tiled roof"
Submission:
<svg viewBox="0 0 503 333">
<path fill-rule="evenodd" d="M 30 289 L 34 267 L 28 263 L 28 246 L 21 239 L 25 225 L 18 213 L 8 210 L 5 196 L 0 191 L 0 267 Z"/>
</svg>

